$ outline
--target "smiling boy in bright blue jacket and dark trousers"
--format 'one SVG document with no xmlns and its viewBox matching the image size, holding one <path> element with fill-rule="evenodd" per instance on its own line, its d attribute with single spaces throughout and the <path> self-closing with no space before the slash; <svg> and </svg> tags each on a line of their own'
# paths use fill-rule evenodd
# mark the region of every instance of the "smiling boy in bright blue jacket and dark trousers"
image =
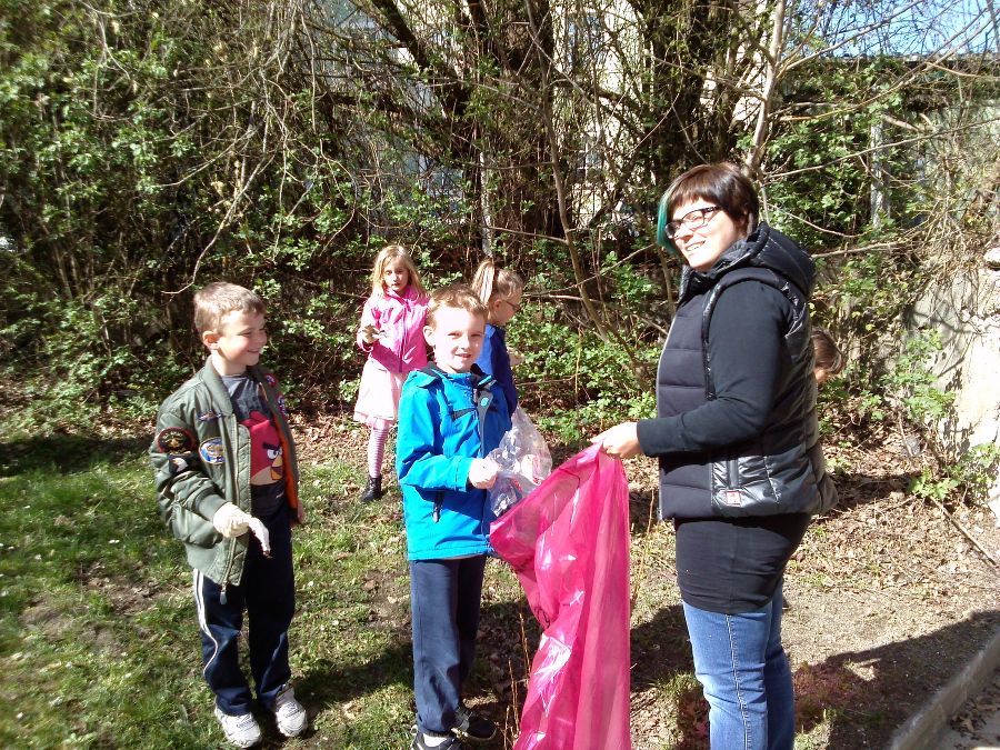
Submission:
<svg viewBox="0 0 1000 750">
<path fill-rule="evenodd" d="M 464 286 L 431 296 L 423 336 L 434 364 L 411 372 L 399 404 L 396 467 L 410 560 L 417 732 L 411 750 L 488 742 L 496 726 L 462 702 L 472 668 L 489 532 L 484 458 L 510 429 L 496 380 L 476 364 L 487 309 Z"/>
</svg>

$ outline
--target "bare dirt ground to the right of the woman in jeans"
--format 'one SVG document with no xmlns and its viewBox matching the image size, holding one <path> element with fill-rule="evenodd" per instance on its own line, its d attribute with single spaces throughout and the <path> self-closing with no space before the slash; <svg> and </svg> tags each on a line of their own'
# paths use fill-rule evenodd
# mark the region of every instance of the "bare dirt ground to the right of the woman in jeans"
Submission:
<svg viewBox="0 0 1000 750">
<path fill-rule="evenodd" d="M 844 709 L 824 747 L 886 747 L 1000 628 L 1000 528 L 984 506 L 908 494 L 920 457 L 891 434 L 828 456 L 841 502 L 790 568 L 784 641 L 806 724 Z"/>
</svg>

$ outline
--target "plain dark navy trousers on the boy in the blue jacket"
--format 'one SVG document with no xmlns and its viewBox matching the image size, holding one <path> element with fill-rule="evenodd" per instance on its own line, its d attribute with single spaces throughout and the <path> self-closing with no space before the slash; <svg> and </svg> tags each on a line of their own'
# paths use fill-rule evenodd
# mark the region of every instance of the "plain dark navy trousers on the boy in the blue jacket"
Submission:
<svg viewBox="0 0 1000 750">
<path fill-rule="evenodd" d="M 486 556 L 410 560 L 413 689 L 421 732 L 448 734 L 472 669 Z"/>
</svg>

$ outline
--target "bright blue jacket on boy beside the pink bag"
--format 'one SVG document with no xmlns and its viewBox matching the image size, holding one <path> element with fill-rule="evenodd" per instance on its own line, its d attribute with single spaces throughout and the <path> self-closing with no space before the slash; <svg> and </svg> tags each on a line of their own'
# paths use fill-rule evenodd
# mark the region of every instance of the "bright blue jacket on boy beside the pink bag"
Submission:
<svg viewBox="0 0 1000 750">
<path fill-rule="evenodd" d="M 399 402 L 396 471 L 410 560 L 490 550 L 489 497 L 469 484 L 469 468 L 509 429 L 507 400 L 478 367 L 448 373 L 431 366 L 409 374 Z"/>
</svg>

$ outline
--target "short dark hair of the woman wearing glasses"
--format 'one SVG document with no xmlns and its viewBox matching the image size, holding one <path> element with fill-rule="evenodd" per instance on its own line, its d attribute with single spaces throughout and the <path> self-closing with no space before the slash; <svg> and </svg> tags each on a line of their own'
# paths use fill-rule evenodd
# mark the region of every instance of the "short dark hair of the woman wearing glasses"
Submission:
<svg viewBox="0 0 1000 750">
<path fill-rule="evenodd" d="M 760 213 L 757 190 L 740 168 L 731 162 L 699 164 L 678 177 L 667 188 L 668 221 L 673 210 L 694 200 L 707 200 L 721 208 L 737 224 L 751 232 Z"/>
</svg>

